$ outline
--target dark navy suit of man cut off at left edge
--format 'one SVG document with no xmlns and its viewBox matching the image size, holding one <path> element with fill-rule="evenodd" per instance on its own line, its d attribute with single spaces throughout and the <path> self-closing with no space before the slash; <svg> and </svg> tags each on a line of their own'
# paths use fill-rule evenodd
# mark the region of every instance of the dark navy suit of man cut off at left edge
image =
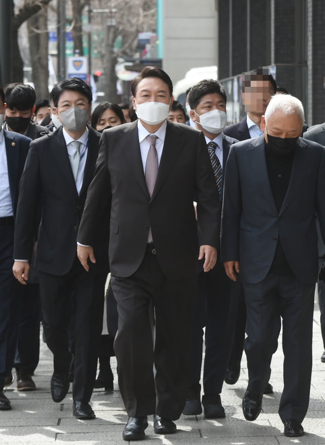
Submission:
<svg viewBox="0 0 325 445">
<path fill-rule="evenodd" d="M 3 130 L 3 134 L 5 136 L 10 196 L 15 217 L 18 185 L 30 139 L 7 130 Z M 23 290 L 12 273 L 14 245 L 14 221 L 12 219 L 0 218 L 0 239 L 0 390 L 2 390 L 5 377 L 11 373 L 14 362 Z"/>
</svg>

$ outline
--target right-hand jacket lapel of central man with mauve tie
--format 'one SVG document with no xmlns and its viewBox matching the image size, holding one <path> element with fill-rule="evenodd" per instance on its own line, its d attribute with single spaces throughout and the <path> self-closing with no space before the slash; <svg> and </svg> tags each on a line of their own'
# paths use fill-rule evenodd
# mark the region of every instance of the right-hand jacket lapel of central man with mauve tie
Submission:
<svg viewBox="0 0 325 445">
<path fill-rule="evenodd" d="M 157 180 L 152 192 L 151 200 L 157 195 L 171 168 L 175 165 L 176 159 L 184 148 L 185 141 L 180 137 L 182 132 L 183 130 L 180 127 L 174 126 L 167 121 L 163 154 L 161 154 Z"/>
</svg>

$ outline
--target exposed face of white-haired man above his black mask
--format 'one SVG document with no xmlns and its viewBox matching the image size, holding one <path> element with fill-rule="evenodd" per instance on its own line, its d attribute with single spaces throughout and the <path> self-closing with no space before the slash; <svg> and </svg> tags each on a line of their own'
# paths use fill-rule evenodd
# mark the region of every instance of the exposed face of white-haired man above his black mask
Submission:
<svg viewBox="0 0 325 445">
<path fill-rule="evenodd" d="M 295 114 L 284 114 L 277 110 L 268 119 L 266 124 L 265 117 L 262 116 L 261 130 L 264 131 L 264 137 L 268 142 L 268 134 L 276 138 L 298 138 L 303 127 L 301 117 Z"/>
</svg>

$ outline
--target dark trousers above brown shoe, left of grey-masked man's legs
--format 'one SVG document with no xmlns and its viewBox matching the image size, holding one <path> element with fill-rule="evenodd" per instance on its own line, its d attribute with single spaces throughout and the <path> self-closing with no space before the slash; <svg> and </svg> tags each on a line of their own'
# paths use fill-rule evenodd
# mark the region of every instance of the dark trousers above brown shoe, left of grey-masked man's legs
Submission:
<svg viewBox="0 0 325 445">
<path fill-rule="evenodd" d="M 14 366 L 32 375 L 40 359 L 41 300 L 38 284 L 23 288 Z"/>
</svg>

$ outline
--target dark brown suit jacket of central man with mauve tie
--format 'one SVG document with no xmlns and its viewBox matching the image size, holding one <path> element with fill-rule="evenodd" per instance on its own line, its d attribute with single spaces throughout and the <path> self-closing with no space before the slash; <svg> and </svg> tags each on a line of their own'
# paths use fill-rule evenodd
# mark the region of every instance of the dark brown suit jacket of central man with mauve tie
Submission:
<svg viewBox="0 0 325 445">
<path fill-rule="evenodd" d="M 95 222 L 109 199 L 112 275 L 128 277 L 138 269 L 151 226 L 161 269 L 169 278 L 184 278 L 196 269 L 198 241 L 200 245 L 215 247 L 219 243 L 220 204 L 204 135 L 167 121 L 163 154 L 150 199 L 137 125 L 136 121 L 103 132 L 78 241 L 93 245 Z M 199 236 L 194 195 L 198 201 Z"/>
</svg>

